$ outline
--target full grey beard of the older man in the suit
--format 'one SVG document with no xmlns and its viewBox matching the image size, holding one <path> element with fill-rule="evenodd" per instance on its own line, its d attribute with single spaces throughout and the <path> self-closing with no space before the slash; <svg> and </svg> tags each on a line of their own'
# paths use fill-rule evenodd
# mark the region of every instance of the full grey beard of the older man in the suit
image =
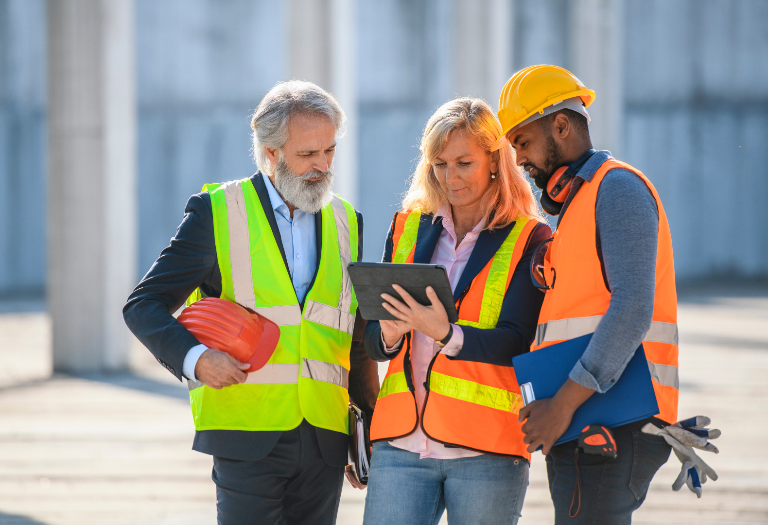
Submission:
<svg viewBox="0 0 768 525">
<path fill-rule="evenodd" d="M 275 189 L 287 203 L 293 204 L 305 213 L 317 213 L 323 210 L 333 200 L 333 167 L 325 173 L 321 171 L 308 171 L 303 175 L 296 175 L 290 169 L 288 163 L 280 154 L 280 162 L 274 171 Z M 323 177 L 322 180 L 311 181 Z"/>
</svg>

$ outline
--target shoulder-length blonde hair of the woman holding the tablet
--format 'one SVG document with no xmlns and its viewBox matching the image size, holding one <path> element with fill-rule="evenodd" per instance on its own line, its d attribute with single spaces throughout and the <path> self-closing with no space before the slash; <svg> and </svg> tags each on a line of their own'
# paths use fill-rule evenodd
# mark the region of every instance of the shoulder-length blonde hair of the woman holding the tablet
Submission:
<svg viewBox="0 0 768 525">
<path fill-rule="evenodd" d="M 482 196 L 483 209 L 493 210 L 485 218 L 484 229 L 506 226 L 518 215 L 543 220 L 531 185 L 515 165 L 515 150 L 506 144 L 499 150 L 491 151 L 492 144 L 502 134 L 502 125 L 498 123 L 496 115 L 487 102 L 468 97 L 442 104 L 429 118 L 419 146 L 419 164 L 402 199 L 403 210 L 420 210 L 432 214 L 443 204 L 449 204 L 435 177 L 432 161 L 445 148 L 449 134 L 454 130 L 470 134 L 486 153 L 492 155 L 492 161 L 498 165 L 495 179 Z"/>
</svg>

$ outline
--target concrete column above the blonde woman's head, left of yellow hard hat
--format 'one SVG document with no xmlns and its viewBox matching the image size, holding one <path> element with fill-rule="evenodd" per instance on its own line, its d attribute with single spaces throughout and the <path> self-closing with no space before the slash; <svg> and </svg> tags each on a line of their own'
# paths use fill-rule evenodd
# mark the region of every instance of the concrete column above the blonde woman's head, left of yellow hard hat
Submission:
<svg viewBox="0 0 768 525">
<path fill-rule="evenodd" d="M 484 98 L 498 111 L 498 95 L 512 70 L 512 0 L 455 0 L 452 81 L 455 96 Z"/>
</svg>

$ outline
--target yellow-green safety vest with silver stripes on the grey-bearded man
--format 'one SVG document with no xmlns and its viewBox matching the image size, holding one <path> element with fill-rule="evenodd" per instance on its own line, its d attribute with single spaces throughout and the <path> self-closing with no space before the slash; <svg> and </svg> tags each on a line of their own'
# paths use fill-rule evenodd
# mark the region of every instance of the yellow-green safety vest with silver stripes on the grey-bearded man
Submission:
<svg viewBox="0 0 768 525">
<path fill-rule="evenodd" d="M 319 269 L 302 312 L 250 180 L 211 184 L 204 191 L 214 211 L 221 298 L 276 322 L 280 341 L 270 362 L 240 385 L 215 390 L 188 381 L 195 428 L 289 430 L 306 418 L 313 426 L 346 432 L 357 309 L 346 266 L 357 254 L 355 210 L 338 196 L 321 210 Z M 199 296 L 196 291 L 190 299 Z M 285 304 L 291 299 L 296 302 Z"/>
</svg>

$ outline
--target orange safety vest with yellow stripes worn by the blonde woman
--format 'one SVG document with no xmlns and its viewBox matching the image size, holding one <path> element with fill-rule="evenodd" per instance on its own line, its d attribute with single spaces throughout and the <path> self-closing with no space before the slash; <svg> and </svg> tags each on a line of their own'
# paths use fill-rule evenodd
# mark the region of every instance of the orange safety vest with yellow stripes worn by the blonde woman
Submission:
<svg viewBox="0 0 768 525">
<path fill-rule="evenodd" d="M 392 232 L 392 263 L 412 263 L 421 213 L 400 211 Z M 458 325 L 494 328 L 502 302 L 538 221 L 518 216 L 504 243 L 458 298 Z M 371 423 L 371 441 L 406 437 L 419 423 L 410 365 L 412 332 L 395 358 L 379 391 Z M 432 358 L 425 382 L 422 431 L 442 444 L 488 454 L 519 456 L 525 450 L 518 411 L 522 398 L 511 366 Z"/>
</svg>

